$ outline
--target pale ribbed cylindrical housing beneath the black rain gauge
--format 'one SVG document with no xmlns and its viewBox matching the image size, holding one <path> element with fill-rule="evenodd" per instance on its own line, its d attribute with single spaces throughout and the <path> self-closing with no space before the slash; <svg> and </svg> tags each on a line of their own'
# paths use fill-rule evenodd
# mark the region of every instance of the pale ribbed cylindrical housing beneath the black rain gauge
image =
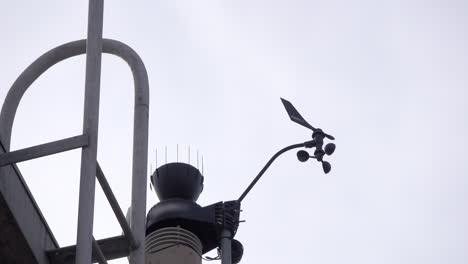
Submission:
<svg viewBox="0 0 468 264">
<path fill-rule="evenodd" d="M 201 264 L 202 244 L 180 227 L 158 229 L 145 240 L 146 264 Z"/>
</svg>

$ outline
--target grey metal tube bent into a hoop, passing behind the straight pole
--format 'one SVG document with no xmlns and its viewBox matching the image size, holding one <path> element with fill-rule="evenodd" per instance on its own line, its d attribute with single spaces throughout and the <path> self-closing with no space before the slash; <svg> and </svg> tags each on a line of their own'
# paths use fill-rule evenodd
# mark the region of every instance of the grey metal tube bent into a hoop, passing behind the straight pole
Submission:
<svg viewBox="0 0 468 264">
<path fill-rule="evenodd" d="M 137 242 L 142 245 L 145 238 L 146 166 L 148 161 L 148 75 L 141 58 L 126 44 L 116 40 L 103 39 L 102 52 L 122 58 L 128 63 L 133 73 L 135 85 L 135 112 L 133 127 L 131 227 Z M 6 151 L 10 150 L 11 131 L 16 111 L 21 98 L 30 85 L 56 63 L 85 53 L 86 40 L 84 39 L 63 44 L 40 56 L 16 79 L 8 91 L 0 113 L 0 137 Z M 137 249 L 137 251 L 142 250 L 144 249 L 141 246 Z"/>
</svg>

